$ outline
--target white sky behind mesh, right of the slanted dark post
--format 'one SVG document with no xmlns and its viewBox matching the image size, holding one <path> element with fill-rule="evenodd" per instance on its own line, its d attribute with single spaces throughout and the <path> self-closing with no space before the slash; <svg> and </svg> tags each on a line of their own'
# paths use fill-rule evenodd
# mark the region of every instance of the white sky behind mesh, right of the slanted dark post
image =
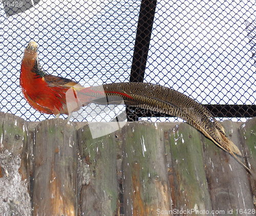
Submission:
<svg viewBox="0 0 256 216">
<path fill-rule="evenodd" d="M 255 1 L 160 1 L 146 81 L 203 104 L 255 104 L 256 68 L 244 23 L 256 20 L 255 10 Z"/>
</svg>

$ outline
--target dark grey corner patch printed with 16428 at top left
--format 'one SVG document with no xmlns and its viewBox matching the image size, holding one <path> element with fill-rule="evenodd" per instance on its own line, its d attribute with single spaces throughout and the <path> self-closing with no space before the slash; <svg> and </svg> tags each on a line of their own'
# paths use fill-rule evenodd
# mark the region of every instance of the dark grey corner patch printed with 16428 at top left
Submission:
<svg viewBox="0 0 256 216">
<path fill-rule="evenodd" d="M 40 0 L 2 0 L 4 5 L 4 10 L 6 16 L 12 16 L 14 14 L 22 13 L 35 5 L 37 5 Z"/>
</svg>

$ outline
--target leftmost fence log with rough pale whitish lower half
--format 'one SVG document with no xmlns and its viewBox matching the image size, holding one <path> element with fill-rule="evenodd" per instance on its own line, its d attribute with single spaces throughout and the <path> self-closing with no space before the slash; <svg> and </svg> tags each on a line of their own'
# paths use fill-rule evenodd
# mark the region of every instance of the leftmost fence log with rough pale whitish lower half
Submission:
<svg viewBox="0 0 256 216">
<path fill-rule="evenodd" d="M 0 215 L 31 215 L 27 123 L 0 112 L 0 137 Z"/>
</svg>

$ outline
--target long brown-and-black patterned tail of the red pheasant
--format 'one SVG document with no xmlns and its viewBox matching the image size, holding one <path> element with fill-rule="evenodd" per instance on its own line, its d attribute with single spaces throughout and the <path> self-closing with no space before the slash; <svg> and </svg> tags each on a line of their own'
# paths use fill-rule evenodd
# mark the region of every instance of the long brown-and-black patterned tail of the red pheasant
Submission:
<svg viewBox="0 0 256 216">
<path fill-rule="evenodd" d="M 103 89 L 102 89 L 103 87 Z M 204 106 L 176 90 L 150 83 L 111 83 L 90 87 L 87 96 L 96 104 L 118 104 L 120 97 L 126 105 L 174 115 L 200 130 L 221 149 L 235 157 L 248 172 L 250 170 L 238 157 L 241 152 L 226 136 L 224 128 Z M 102 97 L 105 92 L 106 97 Z M 78 94 L 79 95 L 79 94 Z M 78 96 L 79 97 L 79 96 Z M 80 99 L 80 98 L 79 98 Z"/>
</svg>

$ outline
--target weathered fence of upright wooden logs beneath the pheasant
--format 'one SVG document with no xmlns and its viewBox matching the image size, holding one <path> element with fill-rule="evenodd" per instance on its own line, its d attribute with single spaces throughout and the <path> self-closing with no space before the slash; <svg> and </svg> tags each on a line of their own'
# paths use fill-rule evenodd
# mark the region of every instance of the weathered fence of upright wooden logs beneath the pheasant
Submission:
<svg viewBox="0 0 256 216">
<path fill-rule="evenodd" d="M 256 179 L 186 123 L 93 139 L 85 123 L 0 121 L 0 215 L 255 215 Z M 256 118 L 222 125 L 255 172 Z"/>
</svg>

